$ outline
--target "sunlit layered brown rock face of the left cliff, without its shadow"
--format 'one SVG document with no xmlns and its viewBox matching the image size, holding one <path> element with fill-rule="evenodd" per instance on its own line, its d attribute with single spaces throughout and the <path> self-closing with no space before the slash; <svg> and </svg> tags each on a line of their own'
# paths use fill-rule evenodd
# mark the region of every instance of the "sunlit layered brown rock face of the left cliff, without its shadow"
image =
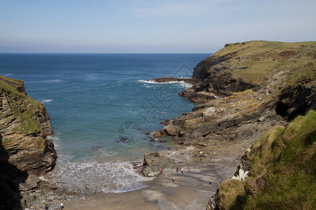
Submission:
<svg viewBox="0 0 316 210">
<path fill-rule="evenodd" d="M 0 90 L 1 157 L 28 174 L 45 174 L 55 166 L 53 134 L 45 107 L 29 104 L 25 96 Z"/>
</svg>

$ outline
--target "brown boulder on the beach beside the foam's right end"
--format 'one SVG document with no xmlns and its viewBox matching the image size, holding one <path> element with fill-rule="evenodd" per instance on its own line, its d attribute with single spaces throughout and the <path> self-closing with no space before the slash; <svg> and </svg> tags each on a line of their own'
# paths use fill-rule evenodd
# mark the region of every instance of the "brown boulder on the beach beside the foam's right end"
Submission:
<svg viewBox="0 0 316 210">
<path fill-rule="evenodd" d="M 160 170 L 162 172 L 167 169 L 172 169 L 175 165 L 174 160 L 167 158 L 160 153 L 145 153 L 144 155 L 144 176 L 159 176 Z"/>
</svg>

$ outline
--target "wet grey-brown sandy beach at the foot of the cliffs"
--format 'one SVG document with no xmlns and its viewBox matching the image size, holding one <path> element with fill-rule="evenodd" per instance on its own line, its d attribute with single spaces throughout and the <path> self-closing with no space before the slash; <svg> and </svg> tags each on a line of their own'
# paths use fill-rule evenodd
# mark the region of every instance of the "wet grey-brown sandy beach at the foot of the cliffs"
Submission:
<svg viewBox="0 0 316 210">
<path fill-rule="evenodd" d="M 244 153 L 239 149 L 240 144 L 227 141 L 218 147 L 195 148 L 192 160 L 148 181 L 146 188 L 126 193 L 98 193 L 86 197 L 86 200 L 64 201 L 64 209 L 206 209 L 220 181 L 235 173 Z M 176 167 L 179 172 L 176 172 Z M 60 202 L 48 204 L 50 209 L 60 209 Z"/>
</svg>

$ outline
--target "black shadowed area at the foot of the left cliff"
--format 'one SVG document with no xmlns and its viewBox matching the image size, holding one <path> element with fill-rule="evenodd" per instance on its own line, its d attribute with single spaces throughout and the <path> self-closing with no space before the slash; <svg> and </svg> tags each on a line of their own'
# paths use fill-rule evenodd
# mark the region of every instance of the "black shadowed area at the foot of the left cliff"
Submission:
<svg viewBox="0 0 316 210">
<path fill-rule="evenodd" d="M 27 173 L 11 165 L 8 158 L 0 134 L 0 210 L 24 209 L 19 187 L 27 179 Z"/>
</svg>

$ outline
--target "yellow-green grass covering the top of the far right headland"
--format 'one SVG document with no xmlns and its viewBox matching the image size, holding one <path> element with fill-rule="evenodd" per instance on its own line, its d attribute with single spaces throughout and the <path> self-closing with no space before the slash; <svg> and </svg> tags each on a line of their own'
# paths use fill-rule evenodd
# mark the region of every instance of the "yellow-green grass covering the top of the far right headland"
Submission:
<svg viewBox="0 0 316 210">
<path fill-rule="evenodd" d="M 214 55 L 223 56 L 230 53 L 234 55 L 228 62 L 231 66 L 237 67 L 232 76 L 242 78 L 246 83 L 261 84 L 280 71 L 295 70 L 287 80 L 287 83 L 292 85 L 296 84 L 302 76 L 310 79 L 315 77 L 315 71 L 310 71 L 312 68 L 315 69 L 316 64 L 315 41 L 298 43 L 246 41 L 230 44 Z"/>
</svg>

